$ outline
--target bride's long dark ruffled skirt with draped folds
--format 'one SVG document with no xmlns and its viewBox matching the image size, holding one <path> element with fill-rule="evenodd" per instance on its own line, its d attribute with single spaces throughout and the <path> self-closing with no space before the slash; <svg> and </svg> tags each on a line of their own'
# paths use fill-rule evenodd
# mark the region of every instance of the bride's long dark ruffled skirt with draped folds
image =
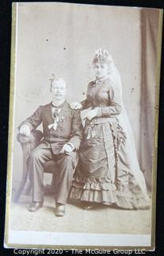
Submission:
<svg viewBox="0 0 164 256">
<path fill-rule="evenodd" d="M 69 197 L 125 209 L 145 209 L 148 197 L 130 168 L 126 134 L 119 123 L 91 123 L 85 127 Z"/>
</svg>

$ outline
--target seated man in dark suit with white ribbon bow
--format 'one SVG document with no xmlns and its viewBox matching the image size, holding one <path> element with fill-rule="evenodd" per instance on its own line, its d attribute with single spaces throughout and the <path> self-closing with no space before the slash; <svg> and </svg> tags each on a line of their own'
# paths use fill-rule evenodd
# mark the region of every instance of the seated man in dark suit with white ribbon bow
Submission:
<svg viewBox="0 0 164 256">
<path fill-rule="evenodd" d="M 33 184 L 32 205 L 29 211 L 37 211 L 43 205 L 44 163 L 57 161 L 57 207 L 56 215 L 64 216 L 65 204 L 72 185 L 77 151 L 82 139 L 82 123 L 79 110 L 72 110 L 65 101 L 66 83 L 61 78 L 52 78 L 50 91 L 52 102 L 39 106 L 34 114 L 21 122 L 20 134 L 30 132 L 42 123 L 44 138 L 27 159 L 29 178 Z"/>
</svg>

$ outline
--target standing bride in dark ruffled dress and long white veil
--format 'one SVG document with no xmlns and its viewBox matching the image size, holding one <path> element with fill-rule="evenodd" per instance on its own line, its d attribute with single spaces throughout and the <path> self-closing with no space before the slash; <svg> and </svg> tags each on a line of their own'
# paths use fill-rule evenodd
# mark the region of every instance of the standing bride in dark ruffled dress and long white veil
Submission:
<svg viewBox="0 0 164 256">
<path fill-rule="evenodd" d="M 84 202 L 85 209 L 94 203 L 144 209 L 146 182 L 123 105 L 119 71 L 103 49 L 96 50 L 92 65 L 96 80 L 88 84 L 86 100 L 71 105 L 88 111 L 70 198 Z"/>
</svg>

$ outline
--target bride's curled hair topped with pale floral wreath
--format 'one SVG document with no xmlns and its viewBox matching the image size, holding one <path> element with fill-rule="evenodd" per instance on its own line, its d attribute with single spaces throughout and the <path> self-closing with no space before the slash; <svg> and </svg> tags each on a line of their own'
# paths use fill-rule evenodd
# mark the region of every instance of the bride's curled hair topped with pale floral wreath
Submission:
<svg viewBox="0 0 164 256">
<path fill-rule="evenodd" d="M 111 55 L 109 52 L 105 49 L 97 49 L 92 61 L 92 65 L 96 65 L 96 63 L 101 63 L 101 64 L 110 64 L 113 62 L 113 59 L 111 58 Z"/>
</svg>

